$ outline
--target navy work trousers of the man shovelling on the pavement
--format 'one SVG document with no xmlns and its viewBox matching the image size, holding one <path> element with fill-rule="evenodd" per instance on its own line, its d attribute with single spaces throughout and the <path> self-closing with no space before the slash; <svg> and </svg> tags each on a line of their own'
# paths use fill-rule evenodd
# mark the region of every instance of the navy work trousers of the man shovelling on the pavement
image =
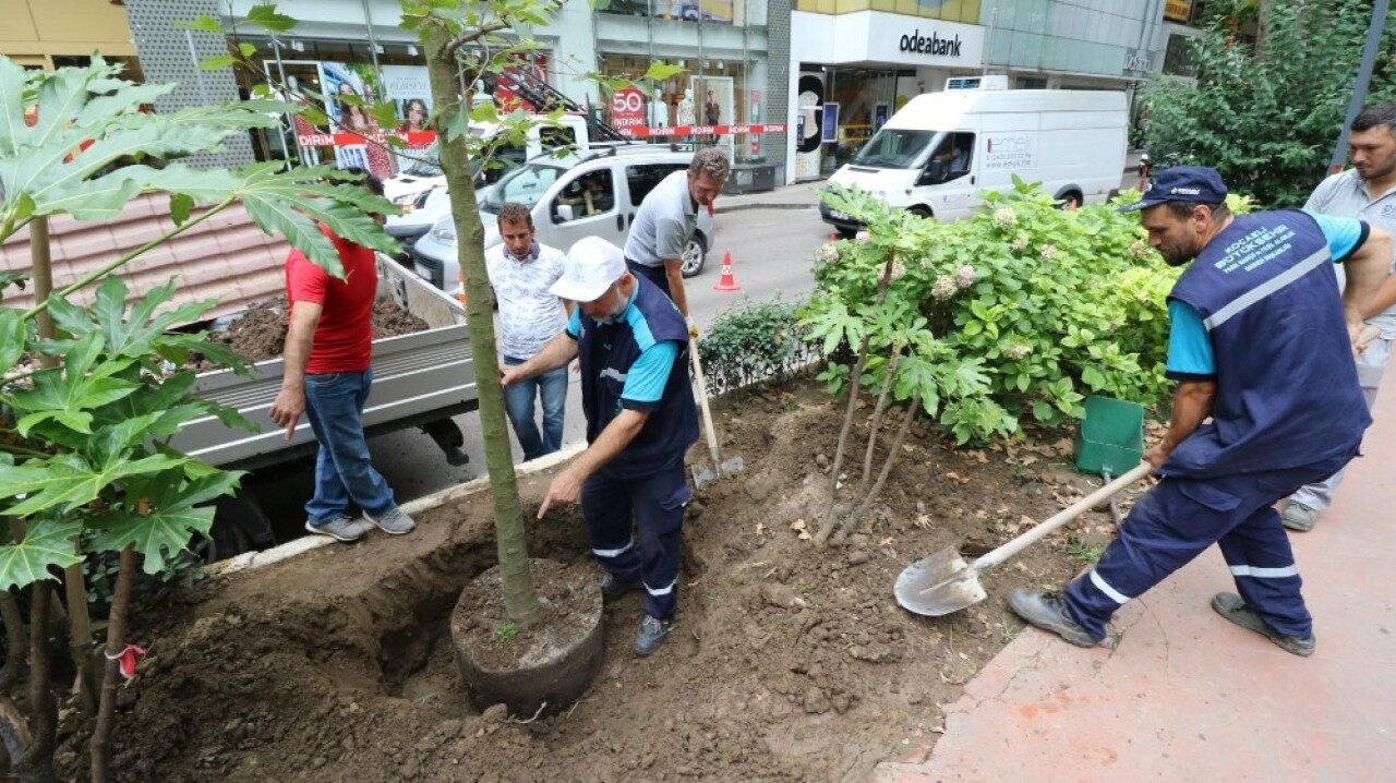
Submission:
<svg viewBox="0 0 1396 783">
<path fill-rule="evenodd" d="M 1290 539 L 1273 505 L 1304 484 L 1332 476 L 1351 458 L 1159 482 L 1129 511 L 1096 567 L 1067 585 L 1067 610 L 1092 636 L 1104 639 L 1115 610 L 1216 543 L 1247 606 L 1280 634 L 1307 639 L 1314 620 L 1304 607 Z"/>
</svg>

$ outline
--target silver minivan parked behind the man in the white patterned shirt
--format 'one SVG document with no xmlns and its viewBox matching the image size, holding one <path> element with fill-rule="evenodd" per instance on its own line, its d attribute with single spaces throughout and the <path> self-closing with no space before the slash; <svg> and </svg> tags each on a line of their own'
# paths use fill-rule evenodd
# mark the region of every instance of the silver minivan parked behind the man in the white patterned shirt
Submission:
<svg viewBox="0 0 1396 783">
<path fill-rule="evenodd" d="M 510 201 L 530 208 L 542 244 L 565 251 L 584 236 L 599 236 L 624 247 L 645 195 L 670 173 L 688 169 L 691 159 L 692 149 L 683 145 L 649 144 L 564 158 L 539 155 L 505 174 L 480 200 L 484 248 L 503 241 L 494 215 Z M 712 216 L 699 209 L 698 229 L 684 248 L 685 278 L 702 271 L 716 232 Z M 437 288 L 456 286 L 455 223 L 450 215 L 431 226 L 410 253 L 417 275 Z"/>
</svg>

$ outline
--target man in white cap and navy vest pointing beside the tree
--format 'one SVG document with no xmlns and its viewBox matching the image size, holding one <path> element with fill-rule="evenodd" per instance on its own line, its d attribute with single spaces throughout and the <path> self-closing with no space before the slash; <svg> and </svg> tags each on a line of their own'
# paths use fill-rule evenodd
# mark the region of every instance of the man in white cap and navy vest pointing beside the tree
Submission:
<svg viewBox="0 0 1396 783">
<path fill-rule="evenodd" d="M 664 642 L 678 607 L 678 530 L 692 495 L 684 454 L 698 441 L 684 370 L 688 325 L 673 300 L 630 272 L 621 250 L 599 237 L 568 250 L 550 290 L 578 304 L 567 329 L 528 361 L 504 367 L 501 381 L 581 359 L 589 445 L 553 479 L 537 515 L 581 500 L 592 553 L 606 571 L 602 597 L 645 589 L 635 631 L 635 652 L 645 656 Z"/>
</svg>

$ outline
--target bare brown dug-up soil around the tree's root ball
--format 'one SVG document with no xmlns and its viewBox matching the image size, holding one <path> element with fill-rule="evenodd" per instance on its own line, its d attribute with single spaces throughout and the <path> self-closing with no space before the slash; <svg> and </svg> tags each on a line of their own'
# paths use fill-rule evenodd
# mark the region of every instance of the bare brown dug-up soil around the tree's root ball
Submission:
<svg viewBox="0 0 1396 783">
<path fill-rule="evenodd" d="M 123 691 L 116 780 L 861 780 L 924 754 L 942 705 L 1022 629 L 1009 589 L 1060 586 L 1113 533 L 1087 514 L 986 574 L 987 602 L 917 617 L 892 597 L 909 562 L 1002 543 L 1099 486 L 1071 472 L 1069 441 L 952 451 L 913 427 L 871 515 L 821 551 L 808 530 L 832 502 L 839 408 L 812 382 L 720 408 L 725 454 L 747 472 L 691 504 L 669 642 L 637 657 L 639 597 L 606 607 L 602 671 L 563 713 L 482 713 L 458 683 L 450 611 L 494 562 L 479 493 L 420 514 L 410 536 L 324 547 L 135 617 L 149 657 Z M 547 480 L 521 479 L 529 551 L 586 564 L 575 508 L 529 514 Z M 64 723 L 68 773 L 85 733 Z"/>
</svg>

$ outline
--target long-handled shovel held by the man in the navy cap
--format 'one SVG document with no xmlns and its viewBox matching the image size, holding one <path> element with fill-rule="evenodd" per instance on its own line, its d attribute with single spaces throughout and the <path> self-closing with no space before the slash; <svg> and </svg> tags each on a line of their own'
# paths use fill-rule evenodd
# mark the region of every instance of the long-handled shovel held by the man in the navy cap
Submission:
<svg viewBox="0 0 1396 783">
<path fill-rule="evenodd" d="M 974 606 L 988 597 L 984 586 L 979 583 L 979 575 L 983 571 L 1040 542 L 1047 533 L 1081 516 L 1103 500 L 1114 497 L 1120 490 L 1148 476 L 1150 470 L 1153 470 L 1153 465 L 1141 462 L 1124 476 L 1058 511 L 1053 518 L 969 565 L 965 564 L 958 547 L 942 549 L 926 560 L 907 565 L 892 588 L 892 592 L 896 593 L 896 603 L 907 611 L 928 617 L 940 617 Z"/>
</svg>

